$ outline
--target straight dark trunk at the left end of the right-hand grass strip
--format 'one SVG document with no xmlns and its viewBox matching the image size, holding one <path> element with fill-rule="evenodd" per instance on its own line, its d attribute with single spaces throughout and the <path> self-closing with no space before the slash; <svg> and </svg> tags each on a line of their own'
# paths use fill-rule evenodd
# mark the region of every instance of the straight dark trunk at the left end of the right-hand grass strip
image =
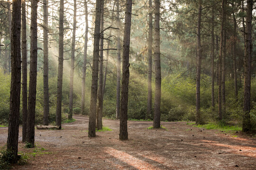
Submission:
<svg viewBox="0 0 256 170">
<path fill-rule="evenodd" d="M 200 81 L 201 81 L 201 57 L 202 57 L 202 47 L 201 47 L 201 15 L 202 15 L 202 5 L 201 0 L 199 0 L 198 9 L 198 24 L 197 24 L 197 71 L 196 71 L 196 124 L 201 123 L 200 117 Z"/>
</svg>

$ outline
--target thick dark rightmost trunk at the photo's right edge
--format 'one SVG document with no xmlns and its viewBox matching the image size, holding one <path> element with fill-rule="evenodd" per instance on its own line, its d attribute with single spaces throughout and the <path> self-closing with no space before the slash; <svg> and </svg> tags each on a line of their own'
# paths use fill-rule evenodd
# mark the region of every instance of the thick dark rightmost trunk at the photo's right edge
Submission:
<svg viewBox="0 0 256 170">
<path fill-rule="evenodd" d="M 251 106 L 251 59 L 252 59 L 252 10 L 253 0 L 247 0 L 246 16 L 246 55 L 245 65 L 245 82 L 244 82 L 244 115 L 243 115 L 243 132 L 251 130 L 250 106 Z"/>
</svg>

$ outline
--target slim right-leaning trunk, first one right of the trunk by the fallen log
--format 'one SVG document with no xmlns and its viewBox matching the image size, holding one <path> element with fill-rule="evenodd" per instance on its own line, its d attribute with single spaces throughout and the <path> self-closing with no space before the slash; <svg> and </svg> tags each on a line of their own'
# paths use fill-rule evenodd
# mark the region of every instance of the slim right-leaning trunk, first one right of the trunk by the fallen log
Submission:
<svg viewBox="0 0 256 170">
<path fill-rule="evenodd" d="M 72 119 L 72 115 L 73 115 L 75 29 L 76 29 L 76 0 L 74 0 L 73 35 L 72 35 L 72 45 L 71 45 L 72 51 L 71 51 L 70 83 L 69 83 L 69 110 L 68 110 L 68 119 L 69 120 Z"/>
</svg>

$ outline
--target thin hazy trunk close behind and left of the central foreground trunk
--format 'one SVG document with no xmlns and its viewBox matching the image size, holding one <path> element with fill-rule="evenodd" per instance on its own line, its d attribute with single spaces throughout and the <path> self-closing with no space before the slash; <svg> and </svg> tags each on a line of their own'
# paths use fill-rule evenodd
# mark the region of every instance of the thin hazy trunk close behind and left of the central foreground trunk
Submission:
<svg viewBox="0 0 256 170">
<path fill-rule="evenodd" d="M 121 42 L 120 42 L 120 11 L 119 11 L 119 0 L 117 0 L 117 48 L 118 48 L 118 59 L 117 59 L 117 106 L 116 106 L 116 119 L 120 118 L 120 76 L 121 76 Z"/>
</svg>

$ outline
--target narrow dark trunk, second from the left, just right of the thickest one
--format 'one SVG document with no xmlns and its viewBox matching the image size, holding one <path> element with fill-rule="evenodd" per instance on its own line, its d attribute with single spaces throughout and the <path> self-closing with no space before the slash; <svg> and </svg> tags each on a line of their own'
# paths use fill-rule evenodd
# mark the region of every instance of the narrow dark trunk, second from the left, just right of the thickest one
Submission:
<svg viewBox="0 0 256 170">
<path fill-rule="evenodd" d="M 21 1 L 22 8 L 22 142 L 27 138 L 27 23 L 26 0 Z"/>
</svg>

